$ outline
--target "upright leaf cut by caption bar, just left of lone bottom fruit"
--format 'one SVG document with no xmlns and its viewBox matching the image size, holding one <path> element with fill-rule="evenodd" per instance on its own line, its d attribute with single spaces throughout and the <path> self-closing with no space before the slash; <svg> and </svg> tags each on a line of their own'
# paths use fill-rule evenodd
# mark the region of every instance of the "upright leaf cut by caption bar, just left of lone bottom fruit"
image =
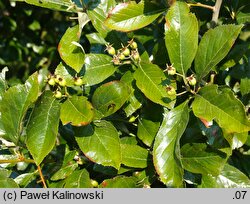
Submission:
<svg viewBox="0 0 250 204">
<path fill-rule="evenodd" d="M 64 188 L 91 188 L 91 180 L 86 169 L 74 171 L 66 180 Z"/>
</svg>

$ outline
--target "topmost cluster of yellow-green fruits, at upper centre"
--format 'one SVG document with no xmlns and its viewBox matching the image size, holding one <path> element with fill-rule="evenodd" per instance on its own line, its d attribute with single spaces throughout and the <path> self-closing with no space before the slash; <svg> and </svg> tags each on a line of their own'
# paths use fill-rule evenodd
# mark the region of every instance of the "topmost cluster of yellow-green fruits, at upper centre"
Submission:
<svg viewBox="0 0 250 204">
<path fill-rule="evenodd" d="M 137 62 L 140 59 L 138 45 L 134 41 L 134 39 L 128 41 L 128 44 L 126 46 L 122 45 L 122 48 L 118 50 L 115 50 L 112 45 L 107 44 L 105 51 L 113 56 L 112 62 L 114 63 L 114 65 L 122 65 L 125 63 L 125 60 L 132 59 L 133 61 Z"/>
</svg>

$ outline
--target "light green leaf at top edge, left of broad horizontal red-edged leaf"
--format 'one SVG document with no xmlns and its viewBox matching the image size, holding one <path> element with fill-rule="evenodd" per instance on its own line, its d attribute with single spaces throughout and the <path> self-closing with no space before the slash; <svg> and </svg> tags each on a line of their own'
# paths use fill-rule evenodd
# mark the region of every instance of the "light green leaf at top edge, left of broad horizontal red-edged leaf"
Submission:
<svg viewBox="0 0 250 204">
<path fill-rule="evenodd" d="M 87 14 L 94 28 L 105 38 L 110 29 L 104 24 L 108 11 L 116 5 L 115 0 L 101 1 L 87 10 Z"/>
</svg>

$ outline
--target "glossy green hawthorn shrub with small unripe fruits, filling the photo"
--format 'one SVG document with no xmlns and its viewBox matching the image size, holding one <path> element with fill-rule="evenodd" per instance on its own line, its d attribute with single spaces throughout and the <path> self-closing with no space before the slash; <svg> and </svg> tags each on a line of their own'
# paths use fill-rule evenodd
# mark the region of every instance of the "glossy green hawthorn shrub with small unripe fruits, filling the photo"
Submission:
<svg viewBox="0 0 250 204">
<path fill-rule="evenodd" d="M 65 30 L 1 56 L 0 187 L 250 187 L 248 0 L 22 1 Z"/>
</svg>

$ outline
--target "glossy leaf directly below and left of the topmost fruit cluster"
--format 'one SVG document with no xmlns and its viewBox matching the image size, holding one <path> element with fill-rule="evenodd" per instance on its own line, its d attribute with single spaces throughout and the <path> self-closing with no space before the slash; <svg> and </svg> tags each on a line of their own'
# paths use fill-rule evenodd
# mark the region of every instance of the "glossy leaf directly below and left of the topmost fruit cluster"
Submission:
<svg viewBox="0 0 250 204">
<path fill-rule="evenodd" d="M 112 62 L 112 57 L 108 55 L 87 54 L 84 71 L 84 81 L 87 85 L 92 86 L 111 76 L 116 71 L 116 67 Z"/>
</svg>

